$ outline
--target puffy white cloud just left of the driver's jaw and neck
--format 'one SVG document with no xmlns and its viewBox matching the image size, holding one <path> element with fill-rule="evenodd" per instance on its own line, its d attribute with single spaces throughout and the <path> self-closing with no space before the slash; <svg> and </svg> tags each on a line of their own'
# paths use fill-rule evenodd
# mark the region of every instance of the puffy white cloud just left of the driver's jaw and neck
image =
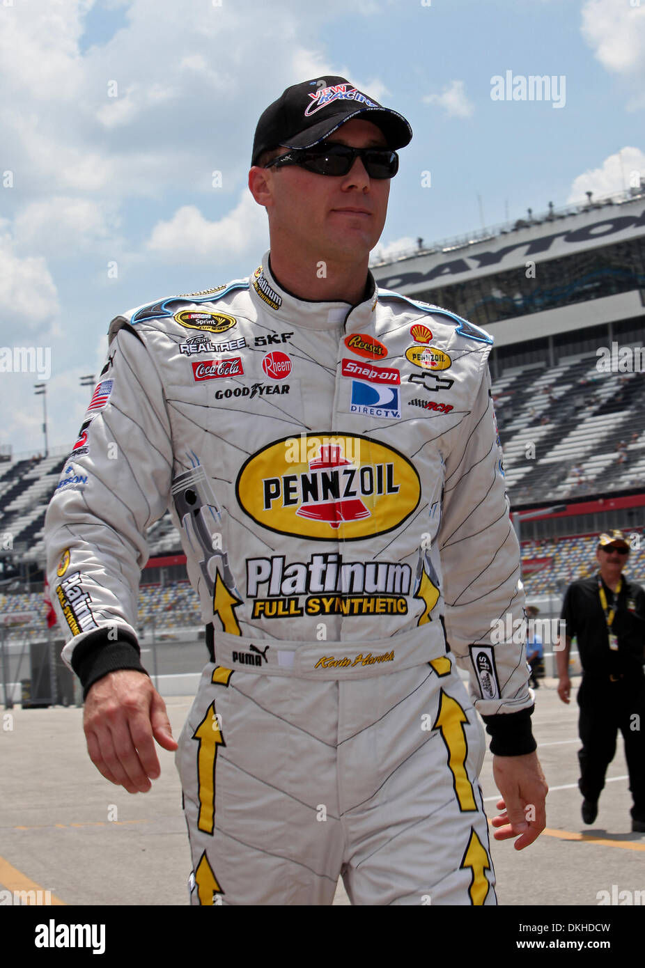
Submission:
<svg viewBox="0 0 645 968">
<path fill-rule="evenodd" d="M 168 222 L 152 229 L 147 248 L 173 259 L 212 262 L 257 254 L 267 238 L 265 210 L 245 188 L 235 208 L 218 222 L 205 219 L 196 205 L 182 205 Z"/>
</svg>

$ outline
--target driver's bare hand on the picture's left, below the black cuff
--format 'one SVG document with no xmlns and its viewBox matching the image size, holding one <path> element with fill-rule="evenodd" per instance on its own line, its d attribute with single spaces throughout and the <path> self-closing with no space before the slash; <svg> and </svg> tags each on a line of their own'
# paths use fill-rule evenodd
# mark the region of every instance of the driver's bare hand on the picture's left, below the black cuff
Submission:
<svg viewBox="0 0 645 968">
<path fill-rule="evenodd" d="M 83 729 L 94 766 L 128 793 L 147 792 L 161 772 L 154 740 L 164 749 L 177 748 L 164 700 L 134 669 L 110 672 L 91 686 Z"/>
</svg>

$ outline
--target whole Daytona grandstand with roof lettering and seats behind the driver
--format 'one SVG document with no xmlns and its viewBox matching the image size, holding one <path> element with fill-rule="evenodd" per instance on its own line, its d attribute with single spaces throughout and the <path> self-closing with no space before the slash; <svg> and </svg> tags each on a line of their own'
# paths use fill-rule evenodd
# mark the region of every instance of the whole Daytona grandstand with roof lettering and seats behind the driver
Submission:
<svg viewBox="0 0 645 968">
<path fill-rule="evenodd" d="M 381 287 L 443 306 L 495 339 L 492 392 L 525 587 L 555 596 L 595 564 L 599 531 L 632 537 L 645 583 L 645 185 L 486 228 L 371 266 Z M 69 458 L 0 454 L 0 620 L 45 617 L 46 502 Z M 549 510 L 551 508 L 551 510 Z M 199 624 L 167 513 L 148 534 L 139 625 Z M 36 624 L 22 634 L 36 634 Z M 16 626 L 17 630 L 18 626 Z"/>
</svg>

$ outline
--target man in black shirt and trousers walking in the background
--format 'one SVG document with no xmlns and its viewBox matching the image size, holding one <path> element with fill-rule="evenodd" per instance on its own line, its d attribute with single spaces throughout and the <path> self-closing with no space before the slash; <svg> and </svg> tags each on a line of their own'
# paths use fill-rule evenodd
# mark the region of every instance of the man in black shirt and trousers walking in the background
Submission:
<svg viewBox="0 0 645 968">
<path fill-rule="evenodd" d="M 577 638 L 582 683 L 578 752 L 582 819 L 598 815 L 604 774 L 616 752 L 620 729 L 630 772 L 631 830 L 645 832 L 645 592 L 621 574 L 630 545 L 622 531 L 600 534 L 599 571 L 569 585 L 562 608 L 566 635 L 557 649 L 558 695 L 569 702 L 568 655 Z"/>
</svg>

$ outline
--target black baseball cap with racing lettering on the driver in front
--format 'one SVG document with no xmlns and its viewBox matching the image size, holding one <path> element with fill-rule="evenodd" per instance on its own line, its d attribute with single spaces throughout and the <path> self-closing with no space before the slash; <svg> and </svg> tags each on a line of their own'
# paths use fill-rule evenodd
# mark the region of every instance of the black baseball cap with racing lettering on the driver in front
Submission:
<svg viewBox="0 0 645 968">
<path fill-rule="evenodd" d="M 358 91 L 345 77 L 318 77 L 293 84 L 261 113 L 253 139 L 255 165 L 262 151 L 283 145 L 310 148 L 353 117 L 381 128 L 388 148 L 404 148 L 412 128 L 398 111 Z"/>
</svg>

